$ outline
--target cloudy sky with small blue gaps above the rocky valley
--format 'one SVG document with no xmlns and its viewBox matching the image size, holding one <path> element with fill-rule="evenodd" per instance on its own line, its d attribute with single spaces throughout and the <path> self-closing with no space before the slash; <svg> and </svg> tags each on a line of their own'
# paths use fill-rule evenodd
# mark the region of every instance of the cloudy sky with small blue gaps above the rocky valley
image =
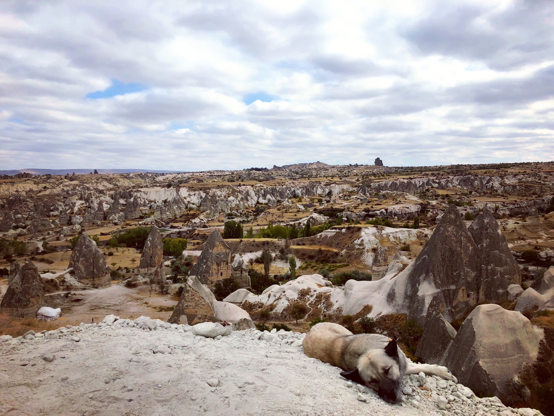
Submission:
<svg viewBox="0 0 554 416">
<path fill-rule="evenodd" d="M 0 169 L 554 159 L 554 3 L 5 1 Z"/>
</svg>

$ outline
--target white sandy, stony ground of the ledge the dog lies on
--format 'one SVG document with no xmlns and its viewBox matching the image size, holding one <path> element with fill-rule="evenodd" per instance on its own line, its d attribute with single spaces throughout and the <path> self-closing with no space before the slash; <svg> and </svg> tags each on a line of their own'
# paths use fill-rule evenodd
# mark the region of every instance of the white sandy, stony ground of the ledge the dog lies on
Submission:
<svg viewBox="0 0 554 416">
<path fill-rule="evenodd" d="M 250 329 L 216 340 L 154 322 L 152 331 L 120 319 L 0 343 L 0 415 L 439 415 L 447 411 L 437 407 L 438 395 L 451 393 L 460 397 L 452 397 L 448 414 L 506 410 L 461 397 L 453 382 L 412 387 L 401 404 L 387 404 L 346 382 L 340 369 L 306 357 L 300 333 Z M 53 361 L 45 361 L 50 354 Z M 410 383 L 405 377 L 404 386 Z"/>
</svg>

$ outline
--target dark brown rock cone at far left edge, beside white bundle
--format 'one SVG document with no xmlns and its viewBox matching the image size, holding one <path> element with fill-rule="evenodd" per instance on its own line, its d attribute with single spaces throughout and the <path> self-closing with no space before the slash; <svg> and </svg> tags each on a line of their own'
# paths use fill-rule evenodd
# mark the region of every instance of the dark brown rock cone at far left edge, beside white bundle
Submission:
<svg viewBox="0 0 554 416">
<path fill-rule="evenodd" d="M 2 298 L 2 313 L 18 318 L 36 317 L 43 306 L 44 286 L 38 274 L 38 268 L 27 259 L 8 286 Z"/>
</svg>

